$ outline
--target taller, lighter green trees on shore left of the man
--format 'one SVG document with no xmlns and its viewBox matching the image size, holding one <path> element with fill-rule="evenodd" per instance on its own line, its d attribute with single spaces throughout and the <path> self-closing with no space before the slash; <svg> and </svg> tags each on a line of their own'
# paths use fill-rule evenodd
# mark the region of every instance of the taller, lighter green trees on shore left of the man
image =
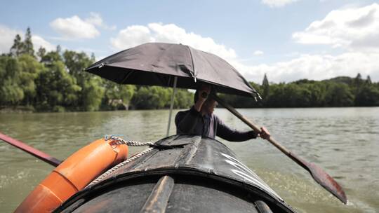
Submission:
<svg viewBox="0 0 379 213">
<path fill-rule="evenodd" d="M 15 36 L 8 54 L 0 55 L 0 107 L 30 111 L 164 109 L 172 88 L 119 85 L 84 69 L 95 56 L 72 50 L 33 48 L 32 34 Z M 192 104 L 192 93 L 178 90 L 175 108 Z"/>
</svg>

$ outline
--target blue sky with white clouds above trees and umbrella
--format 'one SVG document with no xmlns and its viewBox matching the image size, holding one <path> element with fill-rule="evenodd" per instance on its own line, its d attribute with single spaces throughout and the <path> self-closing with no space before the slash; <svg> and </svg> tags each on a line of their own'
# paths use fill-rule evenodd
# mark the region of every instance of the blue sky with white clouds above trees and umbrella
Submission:
<svg viewBox="0 0 379 213">
<path fill-rule="evenodd" d="M 34 49 L 94 53 L 147 42 L 218 55 L 248 80 L 336 76 L 379 81 L 379 1 L 3 1 L 0 53 L 32 30 Z"/>
</svg>

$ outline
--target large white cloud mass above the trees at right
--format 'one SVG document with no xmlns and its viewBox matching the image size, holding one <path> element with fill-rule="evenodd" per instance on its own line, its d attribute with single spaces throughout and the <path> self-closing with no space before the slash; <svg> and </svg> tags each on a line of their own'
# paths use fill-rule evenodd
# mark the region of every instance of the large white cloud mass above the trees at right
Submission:
<svg viewBox="0 0 379 213">
<path fill-rule="evenodd" d="M 270 81 L 288 82 L 300 78 L 354 77 L 359 72 L 379 81 L 379 4 L 331 11 L 323 20 L 293 33 L 293 39 L 302 44 L 340 48 L 345 53 L 300 55 L 290 61 L 260 64 L 246 71 L 246 77 L 260 82 L 259 77 L 267 73 Z"/>
</svg>

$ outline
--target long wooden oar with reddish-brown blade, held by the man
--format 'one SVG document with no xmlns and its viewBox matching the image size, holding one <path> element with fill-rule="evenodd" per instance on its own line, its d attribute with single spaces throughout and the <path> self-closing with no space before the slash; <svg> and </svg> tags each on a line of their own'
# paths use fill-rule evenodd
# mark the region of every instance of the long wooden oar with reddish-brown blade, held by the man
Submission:
<svg viewBox="0 0 379 213">
<path fill-rule="evenodd" d="M 244 116 L 239 114 L 239 112 L 234 109 L 229 104 L 225 103 L 215 94 L 211 94 L 213 99 L 217 101 L 219 104 L 221 104 L 223 107 L 225 107 L 227 110 L 232 112 L 234 116 L 237 116 L 241 121 L 244 121 L 249 127 L 251 127 L 255 132 L 260 132 L 260 128 L 258 125 L 255 125 L 251 121 L 248 121 Z M 294 160 L 298 165 L 305 168 L 310 174 L 312 174 L 312 177 L 317 183 L 319 183 L 321 186 L 326 188 L 327 191 L 330 191 L 335 197 L 340 199 L 343 203 L 347 203 L 347 198 L 345 195 L 345 192 L 343 191 L 343 188 L 335 181 L 329 174 L 324 172 L 324 170 L 321 169 L 321 167 L 318 167 L 314 163 L 308 163 L 306 160 L 303 160 L 302 158 L 296 156 L 294 153 L 291 153 L 288 149 L 286 149 L 284 146 L 281 146 L 277 141 L 275 141 L 274 137 L 270 136 L 267 141 L 269 141 L 272 145 L 276 146 L 277 149 L 279 149 L 281 152 L 285 153 L 286 156 L 290 157 L 292 160 Z"/>
</svg>

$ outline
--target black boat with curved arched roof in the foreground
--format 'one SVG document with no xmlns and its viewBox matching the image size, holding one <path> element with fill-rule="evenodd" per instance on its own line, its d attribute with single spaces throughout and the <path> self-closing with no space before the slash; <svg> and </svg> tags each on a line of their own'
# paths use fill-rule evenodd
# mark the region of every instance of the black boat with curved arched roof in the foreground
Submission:
<svg viewBox="0 0 379 213">
<path fill-rule="evenodd" d="M 54 212 L 295 212 L 215 139 L 173 135 Z"/>
</svg>

